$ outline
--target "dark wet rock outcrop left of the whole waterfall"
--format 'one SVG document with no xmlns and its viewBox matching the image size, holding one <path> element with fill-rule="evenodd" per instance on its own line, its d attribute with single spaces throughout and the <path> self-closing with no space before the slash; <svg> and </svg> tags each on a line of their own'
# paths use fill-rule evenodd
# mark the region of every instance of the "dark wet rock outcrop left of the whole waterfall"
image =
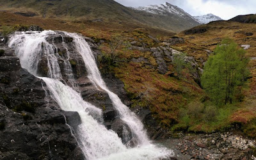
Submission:
<svg viewBox="0 0 256 160">
<path fill-rule="evenodd" d="M 6 49 L 6 47 L 1 47 Z M 6 50 L 5 50 L 6 51 Z M 44 82 L 20 67 L 13 51 L 0 57 L 0 159 L 84 159 L 70 125 Z"/>
</svg>

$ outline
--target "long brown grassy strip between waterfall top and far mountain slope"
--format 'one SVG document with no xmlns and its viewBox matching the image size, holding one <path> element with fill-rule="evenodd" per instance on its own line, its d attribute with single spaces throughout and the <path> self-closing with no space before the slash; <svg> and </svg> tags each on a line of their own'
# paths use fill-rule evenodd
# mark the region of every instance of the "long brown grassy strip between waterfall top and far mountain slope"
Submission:
<svg viewBox="0 0 256 160">
<path fill-rule="evenodd" d="M 0 11 L 0 31 L 4 34 L 15 31 L 20 26 L 29 26 L 31 24 L 40 26 L 44 29 L 52 30 L 64 30 L 70 32 L 83 33 L 83 35 L 97 38 L 104 38 L 111 35 L 115 31 L 133 31 L 139 29 L 146 31 L 154 36 L 173 36 L 175 33 L 166 31 L 165 29 L 150 28 L 145 25 L 137 26 L 134 24 L 122 24 L 111 25 L 105 22 L 81 22 L 62 19 L 51 19 L 41 17 L 24 17 L 11 12 Z"/>
</svg>

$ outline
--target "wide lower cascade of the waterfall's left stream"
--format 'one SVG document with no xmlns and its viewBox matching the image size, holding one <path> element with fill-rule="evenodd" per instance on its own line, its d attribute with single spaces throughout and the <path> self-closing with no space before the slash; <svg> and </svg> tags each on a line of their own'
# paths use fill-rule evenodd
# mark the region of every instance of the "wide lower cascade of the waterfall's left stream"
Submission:
<svg viewBox="0 0 256 160">
<path fill-rule="evenodd" d="M 113 131 L 108 131 L 106 127 L 99 124 L 86 109 L 97 113 L 98 117 L 101 116 L 101 110 L 93 106 L 92 104 L 85 102 L 81 95 L 74 91 L 69 86 L 49 79 L 47 77 L 41 77 L 47 84 L 49 90 L 65 111 L 77 111 L 81 117 L 82 124 L 78 126 L 80 141 L 83 145 L 84 154 L 88 159 L 94 159 L 95 157 L 108 156 L 111 153 L 122 152 L 125 150 L 124 145 L 117 134 Z"/>
</svg>

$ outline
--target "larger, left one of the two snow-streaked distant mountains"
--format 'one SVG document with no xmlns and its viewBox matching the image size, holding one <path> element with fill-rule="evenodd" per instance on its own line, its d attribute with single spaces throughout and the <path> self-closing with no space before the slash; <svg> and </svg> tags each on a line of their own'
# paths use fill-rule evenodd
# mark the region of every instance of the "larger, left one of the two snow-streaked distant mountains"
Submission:
<svg viewBox="0 0 256 160">
<path fill-rule="evenodd" d="M 186 21 L 186 24 L 191 24 L 192 26 L 198 25 L 198 22 L 191 15 L 189 15 L 189 13 L 170 3 L 140 6 L 138 8 L 134 8 L 134 10 L 141 10 L 148 13 L 153 13 L 155 15 L 173 17 L 175 19 L 179 19 L 180 21 Z"/>
</svg>

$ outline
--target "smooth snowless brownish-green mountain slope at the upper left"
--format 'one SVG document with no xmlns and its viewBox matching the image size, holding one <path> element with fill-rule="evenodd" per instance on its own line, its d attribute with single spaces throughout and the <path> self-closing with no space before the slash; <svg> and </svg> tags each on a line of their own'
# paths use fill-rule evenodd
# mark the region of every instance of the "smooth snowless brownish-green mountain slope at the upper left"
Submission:
<svg viewBox="0 0 256 160">
<path fill-rule="evenodd" d="M 198 25 L 195 20 L 177 19 L 175 16 L 163 16 L 139 10 L 132 10 L 113 0 L 0 0 L 1 10 L 43 18 L 79 20 L 83 22 L 101 22 L 133 25 L 136 28 L 150 26 L 179 32 Z"/>
</svg>

